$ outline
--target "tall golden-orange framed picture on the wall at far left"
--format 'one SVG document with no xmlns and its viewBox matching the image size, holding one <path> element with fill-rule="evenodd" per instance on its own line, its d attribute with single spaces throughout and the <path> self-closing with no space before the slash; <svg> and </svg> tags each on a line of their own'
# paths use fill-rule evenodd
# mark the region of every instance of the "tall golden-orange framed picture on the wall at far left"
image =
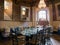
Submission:
<svg viewBox="0 0 60 45">
<path fill-rule="evenodd" d="M 12 20 L 12 0 L 4 0 L 4 20 Z"/>
</svg>

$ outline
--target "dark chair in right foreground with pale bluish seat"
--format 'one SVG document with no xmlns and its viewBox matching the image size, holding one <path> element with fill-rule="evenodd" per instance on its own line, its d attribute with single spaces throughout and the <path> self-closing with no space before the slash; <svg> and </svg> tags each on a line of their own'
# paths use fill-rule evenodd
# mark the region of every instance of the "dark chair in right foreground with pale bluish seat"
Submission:
<svg viewBox="0 0 60 45">
<path fill-rule="evenodd" d="M 45 44 L 46 45 L 53 45 L 52 44 L 52 41 L 51 41 L 51 36 L 52 36 L 52 27 L 47 27 L 45 30 L 44 30 L 44 39 L 45 39 Z"/>
</svg>

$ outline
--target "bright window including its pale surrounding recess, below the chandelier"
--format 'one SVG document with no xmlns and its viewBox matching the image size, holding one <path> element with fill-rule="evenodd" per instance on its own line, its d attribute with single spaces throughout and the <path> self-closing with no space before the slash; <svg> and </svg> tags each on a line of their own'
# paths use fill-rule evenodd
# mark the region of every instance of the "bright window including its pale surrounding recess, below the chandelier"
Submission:
<svg viewBox="0 0 60 45">
<path fill-rule="evenodd" d="M 47 9 L 39 10 L 38 14 L 37 14 L 37 21 L 39 21 L 40 19 L 49 21 L 49 13 L 48 12 L 49 11 Z"/>
</svg>

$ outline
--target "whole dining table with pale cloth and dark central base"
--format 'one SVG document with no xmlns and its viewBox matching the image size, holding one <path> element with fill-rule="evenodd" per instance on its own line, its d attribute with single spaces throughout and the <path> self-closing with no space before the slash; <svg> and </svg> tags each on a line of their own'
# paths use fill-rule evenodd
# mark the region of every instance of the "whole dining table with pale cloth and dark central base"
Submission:
<svg viewBox="0 0 60 45">
<path fill-rule="evenodd" d="M 37 34 L 40 30 L 43 30 L 41 27 L 26 28 L 21 31 L 21 34 L 25 36 L 26 45 L 29 44 L 29 39 L 32 39 L 34 34 Z"/>
</svg>

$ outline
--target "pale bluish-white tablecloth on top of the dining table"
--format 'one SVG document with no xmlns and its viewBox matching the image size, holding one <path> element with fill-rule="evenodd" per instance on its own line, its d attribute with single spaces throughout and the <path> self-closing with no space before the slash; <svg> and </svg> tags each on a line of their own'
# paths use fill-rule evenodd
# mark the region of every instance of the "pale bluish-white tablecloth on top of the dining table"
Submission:
<svg viewBox="0 0 60 45">
<path fill-rule="evenodd" d="M 29 29 L 25 29 L 21 32 L 22 35 L 27 35 L 30 36 L 32 34 L 36 34 L 37 31 L 42 30 L 43 28 L 29 28 Z"/>
</svg>

